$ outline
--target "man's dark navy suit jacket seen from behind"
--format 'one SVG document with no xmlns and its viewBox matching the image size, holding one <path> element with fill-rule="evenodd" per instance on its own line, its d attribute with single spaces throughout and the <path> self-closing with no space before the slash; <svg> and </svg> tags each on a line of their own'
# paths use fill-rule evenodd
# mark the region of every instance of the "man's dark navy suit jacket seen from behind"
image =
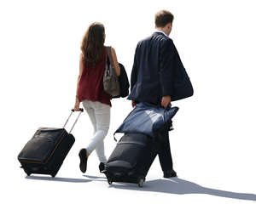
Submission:
<svg viewBox="0 0 256 204">
<path fill-rule="evenodd" d="M 160 105 L 162 96 L 172 99 L 174 81 L 182 80 L 182 65 L 172 39 L 161 32 L 137 43 L 127 99 Z"/>
</svg>

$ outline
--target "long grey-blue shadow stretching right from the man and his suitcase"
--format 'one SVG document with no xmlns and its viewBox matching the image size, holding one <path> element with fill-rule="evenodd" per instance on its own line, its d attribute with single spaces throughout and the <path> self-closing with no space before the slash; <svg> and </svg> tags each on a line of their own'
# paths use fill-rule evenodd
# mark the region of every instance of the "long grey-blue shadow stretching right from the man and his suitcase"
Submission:
<svg viewBox="0 0 256 204">
<path fill-rule="evenodd" d="M 247 201 L 256 201 L 255 194 L 246 194 L 246 193 L 236 193 L 226 190 L 216 190 L 203 187 L 199 184 L 183 180 L 181 178 L 170 178 L 170 179 L 156 179 L 149 180 L 143 184 L 143 188 L 139 188 L 137 184 L 117 184 L 113 183 L 109 186 L 110 188 L 116 189 L 126 189 L 126 190 L 143 190 L 143 191 L 152 191 L 160 193 L 169 193 L 177 195 L 186 195 L 186 194 L 205 194 L 205 195 L 215 195 L 225 198 L 233 198 Z"/>
</svg>

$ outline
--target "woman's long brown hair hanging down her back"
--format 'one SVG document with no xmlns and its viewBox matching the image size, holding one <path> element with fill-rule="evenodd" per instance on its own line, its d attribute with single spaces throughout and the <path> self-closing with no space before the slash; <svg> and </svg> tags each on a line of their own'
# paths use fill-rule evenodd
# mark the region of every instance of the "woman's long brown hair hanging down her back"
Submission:
<svg viewBox="0 0 256 204">
<path fill-rule="evenodd" d="M 84 34 L 81 50 L 84 54 L 84 63 L 88 67 L 95 66 L 99 62 L 103 53 L 105 42 L 105 28 L 102 23 L 92 23 Z"/>
</svg>

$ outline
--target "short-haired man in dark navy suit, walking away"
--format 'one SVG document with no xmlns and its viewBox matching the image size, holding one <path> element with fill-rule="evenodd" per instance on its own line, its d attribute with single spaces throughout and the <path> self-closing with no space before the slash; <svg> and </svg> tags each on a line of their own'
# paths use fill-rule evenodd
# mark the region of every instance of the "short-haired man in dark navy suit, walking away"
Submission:
<svg viewBox="0 0 256 204">
<path fill-rule="evenodd" d="M 166 10 L 155 14 L 155 29 L 152 36 L 137 43 L 131 71 L 131 94 L 134 107 L 139 102 L 148 102 L 166 107 L 171 104 L 175 72 L 176 48 L 168 36 L 172 31 L 173 15 Z M 157 142 L 157 153 L 164 178 L 176 177 L 172 167 L 169 133 L 164 131 Z"/>
</svg>

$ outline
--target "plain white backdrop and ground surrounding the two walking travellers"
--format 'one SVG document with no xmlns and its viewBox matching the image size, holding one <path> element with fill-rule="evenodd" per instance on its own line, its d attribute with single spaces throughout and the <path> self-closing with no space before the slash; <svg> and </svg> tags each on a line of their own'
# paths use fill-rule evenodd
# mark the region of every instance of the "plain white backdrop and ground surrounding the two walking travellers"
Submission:
<svg viewBox="0 0 256 204">
<path fill-rule="evenodd" d="M 250 203 L 256 201 L 255 1 L 0 2 L 1 203 Z M 154 31 L 154 14 L 174 14 L 171 36 L 195 88 L 177 101 L 170 133 L 178 178 L 162 178 L 158 158 L 143 189 L 108 186 L 96 154 L 79 172 L 80 148 L 92 133 L 83 114 L 76 143 L 56 178 L 26 177 L 17 155 L 38 127 L 61 127 L 75 99 L 79 46 L 93 21 L 131 75 L 137 42 Z M 106 141 L 131 111 L 112 101 Z M 72 122 L 71 122 L 72 123 Z M 157 195 L 157 196 L 156 196 Z M 3 201 L 4 200 L 4 201 Z"/>
</svg>

